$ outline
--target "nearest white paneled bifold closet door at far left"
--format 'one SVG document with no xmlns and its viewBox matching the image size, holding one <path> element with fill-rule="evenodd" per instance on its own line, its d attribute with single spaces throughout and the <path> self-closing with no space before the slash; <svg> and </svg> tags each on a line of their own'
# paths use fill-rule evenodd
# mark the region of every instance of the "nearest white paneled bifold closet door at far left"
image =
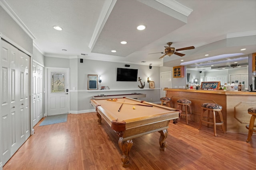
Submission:
<svg viewBox="0 0 256 170">
<path fill-rule="evenodd" d="M 3 165 L 30 136 L 30 57 L 1 40 L 1 154 Z"/>
</svg>

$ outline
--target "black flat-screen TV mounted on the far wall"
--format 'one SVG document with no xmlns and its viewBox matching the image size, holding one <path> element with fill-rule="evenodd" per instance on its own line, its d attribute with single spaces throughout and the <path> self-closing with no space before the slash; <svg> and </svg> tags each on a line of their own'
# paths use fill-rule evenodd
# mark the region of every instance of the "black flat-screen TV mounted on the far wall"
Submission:
<svg viewBox="0 0 256 170">
<path fill-rule="evenodd" d="M 116 81 L 121 82 L 136 82 L 138 69 L 117 68 Z"/>
</svg>

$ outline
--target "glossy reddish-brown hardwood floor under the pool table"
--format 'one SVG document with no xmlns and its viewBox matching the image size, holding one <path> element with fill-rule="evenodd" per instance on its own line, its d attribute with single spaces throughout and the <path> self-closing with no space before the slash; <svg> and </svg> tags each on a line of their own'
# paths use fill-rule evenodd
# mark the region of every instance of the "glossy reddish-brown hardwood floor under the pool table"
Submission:
<svg viewBox="0 0 256 170">
<path fill-rule="evenodd" d="M 42 120 L 41 120 L 42 121 Z M 40 121 L 40 122 L 41 122 Z M 118 137 L 96 112 L 68 114 L 68 121 L 34 127 L 35 133 L 3 170 L 252 170 L 256 169 L 256 135 L 222 133 L 185 119 L 170 123 L 167 149 L 159 150 L 159 133 L 133 139 L 130 165 L 121 165 Z M 172 122 L 172 121 L 171 121 Z M 245 127 L 244 127 L 245 128 Z"/>
</svg>

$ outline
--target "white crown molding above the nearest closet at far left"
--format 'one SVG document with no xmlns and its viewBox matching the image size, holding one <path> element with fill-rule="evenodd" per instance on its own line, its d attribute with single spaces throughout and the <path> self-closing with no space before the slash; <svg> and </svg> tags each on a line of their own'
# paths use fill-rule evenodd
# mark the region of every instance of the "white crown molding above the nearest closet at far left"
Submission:
<svg viewBox="0 0 256 170">
<path fill-rule="evenodd" d="M 28 29 L 28 27 L 23 23 L 23 21 L 18 17 L 18 15 L 12 10 L 5 0 L 0 0 L 0 6 L 23 29 L 23 31 L 28 34 L 32 40 L 36 39 L 36 36 Z"/>
</svg>

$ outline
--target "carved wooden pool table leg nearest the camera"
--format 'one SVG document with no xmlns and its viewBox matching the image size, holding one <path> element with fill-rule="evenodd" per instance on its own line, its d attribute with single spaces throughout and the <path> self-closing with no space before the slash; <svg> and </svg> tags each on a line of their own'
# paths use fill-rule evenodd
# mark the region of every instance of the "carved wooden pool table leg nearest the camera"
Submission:
<svg viewBox="0 0 256 170">
<path fill-rule="evenodd" d="M 129 152 L 132 148 L 132 139 L 123 141 L 123 138 L 120 137 L 118 141 L 119 147 L 123 152 L 123 155 L 121 156 L 121 161 L 122 161 L 122 166 L 123 167 L 128 167 L 129 164 Z"/>
</svg>

